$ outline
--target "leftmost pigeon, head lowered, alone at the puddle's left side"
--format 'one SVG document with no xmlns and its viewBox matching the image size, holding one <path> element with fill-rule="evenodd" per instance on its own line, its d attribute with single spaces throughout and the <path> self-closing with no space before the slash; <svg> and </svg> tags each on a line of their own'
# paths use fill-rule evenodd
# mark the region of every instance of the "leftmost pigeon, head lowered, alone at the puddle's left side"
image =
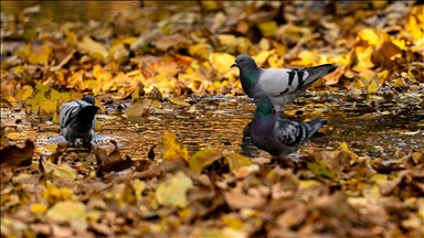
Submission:
<svg viewBox="0 0 424 238">
<path fill-rule="evenodd" d="M 93 96 L 86 95 L 81 100 L 64 104 L 59 115 L 62 134 L 71 147 L 81 143 L 84 148 L 92 147 L 96 113 L 99 109 L 94 105 Z"/>
</svg>

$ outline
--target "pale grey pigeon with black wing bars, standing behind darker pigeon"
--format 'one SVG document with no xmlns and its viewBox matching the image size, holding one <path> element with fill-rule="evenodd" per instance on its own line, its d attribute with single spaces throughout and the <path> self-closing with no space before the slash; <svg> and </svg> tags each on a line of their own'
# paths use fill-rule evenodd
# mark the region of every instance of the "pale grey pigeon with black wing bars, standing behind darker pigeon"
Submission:
<svg viewBox="0 0 424 238">
<path fill-rule="evenodd" d="M 255 61 L 245 54 L 239 55 L 231 67 L 239 67 L 243 90 L 253 97 L 265 91 L 275 111 L 294 101 L 318 78 L 336 71 L 337 66 L 324 64 L 305 68 L 259 68 Z"/>
</svg>

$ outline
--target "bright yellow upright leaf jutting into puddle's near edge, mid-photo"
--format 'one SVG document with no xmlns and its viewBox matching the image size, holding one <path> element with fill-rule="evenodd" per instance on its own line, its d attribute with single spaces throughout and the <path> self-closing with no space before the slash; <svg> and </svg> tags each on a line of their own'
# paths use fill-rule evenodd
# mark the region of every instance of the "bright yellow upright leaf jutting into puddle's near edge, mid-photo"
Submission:
<svg viewBox="0 0 424 238">
<path fill-rule="evenodd" d="M 171 131 L 163 131 L 161 145 L 165 151 L 162 155 L 163 160 L 183 159 L 189 162 L 189 152 L 187 148 L 177 140 Z"/>
</svg>

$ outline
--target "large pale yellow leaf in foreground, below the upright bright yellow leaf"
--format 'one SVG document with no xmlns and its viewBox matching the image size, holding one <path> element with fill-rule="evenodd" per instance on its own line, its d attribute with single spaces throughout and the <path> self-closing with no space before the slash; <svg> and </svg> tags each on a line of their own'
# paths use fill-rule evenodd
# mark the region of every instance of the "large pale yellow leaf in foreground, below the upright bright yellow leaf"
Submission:
<svg viewBox="0 0 424 238">
<path fill-rule="evenodd" d="M 186 207 L 188 205 L 186 193 L 193 187 L 193 182 L 183 172 L 167 177 L 159 183 L 155 192 L 155 198 L 159 204 Z"/>
</svg>

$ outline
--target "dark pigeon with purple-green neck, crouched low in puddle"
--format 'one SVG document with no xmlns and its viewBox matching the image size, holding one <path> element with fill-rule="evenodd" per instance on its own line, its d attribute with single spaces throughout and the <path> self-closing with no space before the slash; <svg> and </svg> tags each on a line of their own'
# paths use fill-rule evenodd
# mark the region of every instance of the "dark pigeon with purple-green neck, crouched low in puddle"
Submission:
<svg viewBox="0 0 424 238">
<path fill-rule="evenodd" d="M 251 138 L 261 150 L 273 156 L 286 159 L 297 151 L 301 144 L 327 123 L 326 119 L 314 119 L 308 122 L 292 121 L 277 118 L 273 113 L 273 104 L 268 95 L 259 91 L 254 96 L 256 111 L 252 119 Z"/>
</svg>

